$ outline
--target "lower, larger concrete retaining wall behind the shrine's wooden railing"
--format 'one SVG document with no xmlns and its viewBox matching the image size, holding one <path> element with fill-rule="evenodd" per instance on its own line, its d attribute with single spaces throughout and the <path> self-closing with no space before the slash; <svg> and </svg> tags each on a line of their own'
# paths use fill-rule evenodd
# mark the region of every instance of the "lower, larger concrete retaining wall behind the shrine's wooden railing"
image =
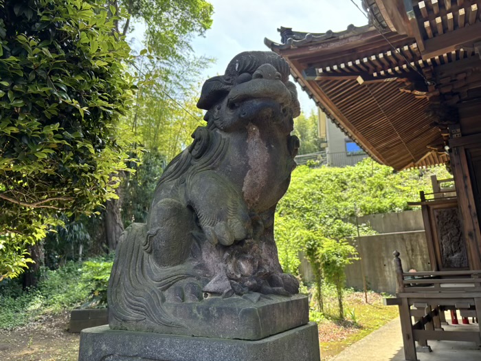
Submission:
<svg viewBox="0 0 481 361">
<path fill-rule="evenodd" d="M 368 289 L 376 292 L 396 292 L 396 273 L 392 252 L 401 253 L 403 270 L 431 270 L 424 230 L 414 232 L 378 234 L 353 240 L 361 261 L 346 268 L 347 286 L 363 288 L 361 262 L 366 274 Z"/>
</svg>

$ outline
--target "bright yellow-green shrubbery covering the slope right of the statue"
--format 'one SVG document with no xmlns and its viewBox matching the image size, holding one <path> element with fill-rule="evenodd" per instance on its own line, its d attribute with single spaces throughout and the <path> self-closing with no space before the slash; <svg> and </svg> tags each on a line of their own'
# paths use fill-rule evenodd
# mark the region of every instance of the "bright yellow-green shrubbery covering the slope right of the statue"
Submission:
<svg viewBox="0 0 481 361">
<path fill-rule="evenodd" d="M 317 311 L 324 310 L 325 282 L 337 292 L 340 318 L 344 267 L 353 261 L 355 248 L 344 239 L 373 234 L 366 225 L 357 227 L 355 217 L 409 209 L 408 201 L 428 191 L 431 175 L 449 175 L 445 168 L 434 167 L 394 173 L 370 159 L 356 166 L 335 168 L 299 166 L 292 174 L 291 186 L 276 210 L 275 238 L 284 272 L 298 275 L 299 254 L 311 263 Z M 324 310 L 325 311 L 325 310 Z"/>
</svg>

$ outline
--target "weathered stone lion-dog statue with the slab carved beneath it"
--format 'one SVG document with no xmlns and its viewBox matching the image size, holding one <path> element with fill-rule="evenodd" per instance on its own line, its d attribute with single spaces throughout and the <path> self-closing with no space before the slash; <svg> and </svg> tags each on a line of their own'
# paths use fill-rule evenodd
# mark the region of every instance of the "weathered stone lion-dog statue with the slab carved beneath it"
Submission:
<svg viewBox="0 0 481 361">
<path fill-rule="evenodd" d="M 205 81 L 197 107 L 207 110 L 207 127 L 166 168 L 147 223 L 128 227 L 118 245 L 112 329 L 256 339 L 307 322 L 273 238 L 299 147 L 290 133 L 300 106 L 288 77 L 277 54 L 244 52 Z M 295 320 L 266 329 L 267 305 L 278 318 L 290 309 Z M 238 333 L 243 322 L 257 331 Z"/>
</svg>

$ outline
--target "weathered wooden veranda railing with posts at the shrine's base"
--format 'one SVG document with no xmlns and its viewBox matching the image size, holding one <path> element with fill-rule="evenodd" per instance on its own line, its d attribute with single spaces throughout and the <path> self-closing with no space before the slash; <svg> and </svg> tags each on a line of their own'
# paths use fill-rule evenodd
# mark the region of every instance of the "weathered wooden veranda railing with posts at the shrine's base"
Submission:
<svg viewBox="0 0 481 361">
<path fill-rule="evenodd" d="M 460 310 L 463 317 L 481 318 L 481 270 L 403 272 L 399 252 L 394 253 L 396 298 L 385 305 L 399 306 L 404 355 L 417 361 L 416 344 L 427 348 L 427 340 L 471 341 L 481 345 L 478 331 L 443 331 L 444 311 Z M 414 318 L 414 322 L 413 322 Z"/>
</svg>

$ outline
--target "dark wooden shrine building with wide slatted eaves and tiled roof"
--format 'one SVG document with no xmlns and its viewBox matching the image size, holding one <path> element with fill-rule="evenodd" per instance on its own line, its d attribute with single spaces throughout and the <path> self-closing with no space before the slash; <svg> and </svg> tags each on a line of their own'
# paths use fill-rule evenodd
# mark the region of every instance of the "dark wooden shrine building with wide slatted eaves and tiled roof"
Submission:
<svg viewBox="0 0 481 361">
<path fill-rule="evenodd" d="M 363 8 L 366 26 L 324 33 L 281 28 L 280 43 L 265 44 L 374 160 L 398 171 L 451 168 L 456 197 L 423 200 L 432 210 L 425 218 L 432 272 L 419 272 L 424 278 L 410 288 L 396 257 L 399 292 L 392 304 L 400 307 L 406 360 L 416 360 L 412 340 L 481 344 L 481 329 L 451 337 L 438 322 L 445 309 L 481 315 L 481 0 L 363 0 Z M 439 216 L 443 209 L 458 219 L 460 237 L 446 236 L 453 228 Z M 443 264 L 460 248 L 464 259 Z"/>
</svg>

